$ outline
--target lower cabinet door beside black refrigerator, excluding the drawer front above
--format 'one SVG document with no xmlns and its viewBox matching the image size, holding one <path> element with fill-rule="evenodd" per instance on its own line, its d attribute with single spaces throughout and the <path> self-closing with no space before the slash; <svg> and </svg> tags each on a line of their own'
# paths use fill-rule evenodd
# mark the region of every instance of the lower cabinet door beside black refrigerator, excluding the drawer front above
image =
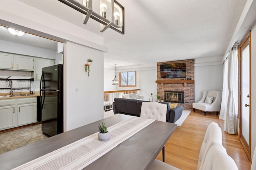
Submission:
<svg viewBox="0 0 256 170">
<path fill-rule="evenodd" d="M 36 103 L 18 105 L 18 126 L 36 123 Z"/>
</svg>

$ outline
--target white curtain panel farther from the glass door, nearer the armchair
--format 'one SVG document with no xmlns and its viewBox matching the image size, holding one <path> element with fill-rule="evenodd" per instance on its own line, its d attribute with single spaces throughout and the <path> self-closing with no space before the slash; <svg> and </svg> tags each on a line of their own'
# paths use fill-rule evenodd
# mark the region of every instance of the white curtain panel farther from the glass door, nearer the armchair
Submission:
<svg viewBox="0 0 256 170">
<path fill-rule="evenodd" d="M 221 100 L 220 116 L 219 116 L 219 118 L 222 120 L 226 119 L 227 103 L 228 103 L 228 59 L 226 59 L 223 64 L 223 87 L 222 87 L 222 100 Z"/>
</svg>

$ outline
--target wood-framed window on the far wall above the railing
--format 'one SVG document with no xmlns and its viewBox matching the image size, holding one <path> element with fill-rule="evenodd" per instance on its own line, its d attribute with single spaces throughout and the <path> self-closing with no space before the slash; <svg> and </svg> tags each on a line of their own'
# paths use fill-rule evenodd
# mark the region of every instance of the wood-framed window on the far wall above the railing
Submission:
<svg viewBox="0 0 256 170">
<path fill-rule="evenodd" d="M 119 72 L 119 87 L 136 87 L 136 71 Z"/>
</svg>

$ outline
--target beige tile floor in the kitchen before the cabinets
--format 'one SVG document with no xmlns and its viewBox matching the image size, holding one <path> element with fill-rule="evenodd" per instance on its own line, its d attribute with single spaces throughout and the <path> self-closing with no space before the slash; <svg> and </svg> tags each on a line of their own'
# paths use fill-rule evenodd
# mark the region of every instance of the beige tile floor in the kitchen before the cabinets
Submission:
<svg viewBox="0 0 256 170">
<path fill-rule="evenodd" d="M 41 124 L 0 133 L 0 154 L 48 138 L 42 134 Z"/>
</svg>

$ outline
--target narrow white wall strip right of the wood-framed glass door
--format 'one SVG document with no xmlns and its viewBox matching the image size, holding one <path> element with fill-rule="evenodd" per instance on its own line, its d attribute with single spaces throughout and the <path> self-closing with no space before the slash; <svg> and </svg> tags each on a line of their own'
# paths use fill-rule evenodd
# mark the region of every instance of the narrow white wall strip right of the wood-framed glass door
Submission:
<svg viewBox="0 0 256 170">
<path fill-rule="evenodd" d="M 256 111 L 256 76 L 255 76 L 255 73 L 256 73 L 256 22 L 254 23 L 254 25 L 252 26 L 252 30 L 251 30 L 251 38 L 252 38 L 252 49 L 251 49 L 251 77 L 252 77 L 252 96 L 251 96 L 251 103 L 250 103 L 250 107 L 251 107 L 251 118 L 252 118 L 252 124 L 251 124 L 251 128 L 252 128 L 252 131 L 251 131 L 251 137 L 252 137 L 252 156 L 253 156 L 253 153 L 254 153 L 254 149 L 255 149 L 255 146 L 256 146 L 256 123 L 254 123 L 256 121 L 256 114 L 255 114 L 255 111 Z"/>
</svg>

